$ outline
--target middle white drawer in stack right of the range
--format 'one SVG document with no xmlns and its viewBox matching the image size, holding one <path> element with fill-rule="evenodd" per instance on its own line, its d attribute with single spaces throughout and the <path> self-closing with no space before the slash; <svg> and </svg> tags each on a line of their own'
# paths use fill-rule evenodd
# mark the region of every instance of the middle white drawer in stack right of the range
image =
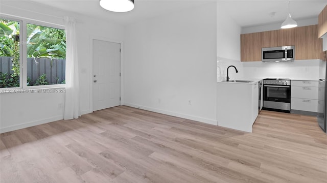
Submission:
<svg viewBox="0 0 327 183">
<path fill-rule="evenodd" d="M 318 87 L 292 86 L 291 98 L 315 99 L 318 100 Z"/>
</svg>

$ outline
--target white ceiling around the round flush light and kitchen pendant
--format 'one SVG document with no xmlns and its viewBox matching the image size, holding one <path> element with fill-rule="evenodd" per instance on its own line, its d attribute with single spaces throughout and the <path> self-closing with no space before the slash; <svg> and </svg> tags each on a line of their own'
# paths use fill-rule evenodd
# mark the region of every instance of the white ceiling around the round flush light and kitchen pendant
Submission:
<svg viewBox="0 0 327 183">
<path fill-rule="evenodd" d="M 4 2 L 6 0 L 2 0 Z M 15 0 L 11 0 L 15 1 Z M 181 9 L 218 2 L 240 26 L 249 27 L 283 22 L 288 12 L 288 1 L 221 1 L 221 0 L 134 0 L 134 10 L 126 13 L 109 12 L 102 9 L 99 0 L 25 0 L 49 7 L 71 11 L 91 17 L 110 20 L 119 24 L 129 24 L 138 20 L 169 14 Z M 9 1 L 10 2 L 10 1 Z M 7 2 L 8 3 L 8 2 Z M 325 1 L 290 1 L 290 13 L 294 20 L 317 18 L 320 11 L 327 5 Z"/>
</svg>

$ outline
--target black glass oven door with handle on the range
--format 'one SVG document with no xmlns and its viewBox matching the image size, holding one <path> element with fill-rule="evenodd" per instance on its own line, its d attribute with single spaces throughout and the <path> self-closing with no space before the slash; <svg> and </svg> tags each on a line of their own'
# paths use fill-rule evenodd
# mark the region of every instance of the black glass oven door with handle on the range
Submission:
<svg viewBox="0 0 327 183">
<path fill-rule="evenodd" d="M 291 86 L 264 85 L 264 101 L 291 103 Z"/>
</svg>

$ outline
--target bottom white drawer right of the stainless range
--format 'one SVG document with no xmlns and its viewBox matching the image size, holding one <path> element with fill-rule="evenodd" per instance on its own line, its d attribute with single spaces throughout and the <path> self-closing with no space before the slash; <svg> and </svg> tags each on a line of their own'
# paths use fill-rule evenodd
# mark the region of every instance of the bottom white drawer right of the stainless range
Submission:
<svg viewBox="0 0 327 183">
<path fill-rule="evenodd" d="M 318 100 L 291 98 L 291 109 L 318 112 Z"/>
</svg>

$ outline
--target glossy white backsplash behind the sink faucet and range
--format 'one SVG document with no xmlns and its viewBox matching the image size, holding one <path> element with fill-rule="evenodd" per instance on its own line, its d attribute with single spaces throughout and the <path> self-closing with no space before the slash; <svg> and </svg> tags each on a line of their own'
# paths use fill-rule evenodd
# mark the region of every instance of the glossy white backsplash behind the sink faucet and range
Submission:
<svg viewBox="0 0 327 183">
<path fill-rule="evenodd" d="M 217 81 L 226 80 L 227 67 L 235 66 L 239 73 L 233 68 L 229 69 L 229 78 L 290 78 L 318 80 L 324 78 L 326 62 L 319 59 L 295 60 L 294 62 L 263 63 L 263 62 L 240 62 L 227 58 L 217 57 Z"/>
</svg>

